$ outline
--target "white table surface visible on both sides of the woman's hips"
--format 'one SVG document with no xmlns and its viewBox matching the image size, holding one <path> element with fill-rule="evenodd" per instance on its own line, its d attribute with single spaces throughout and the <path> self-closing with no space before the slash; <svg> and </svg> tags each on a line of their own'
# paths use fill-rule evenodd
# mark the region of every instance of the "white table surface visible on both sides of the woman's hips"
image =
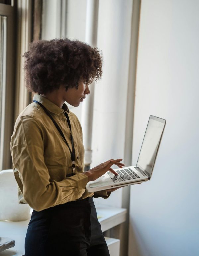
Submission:
<svg viewBox="0 0 199 256">
<path fill-rule="evenodd" d="M 126 220 L 126 209 L 99 205 L 96 210 L 102 232 Z M 16 242 L 14 248 L 0 252 L 0 256 L 24 255 L 24 240 L 28 223 L 29 220 L 19 222 L 0 221 L 0 236 L 12 238 Z"/>
</svg>

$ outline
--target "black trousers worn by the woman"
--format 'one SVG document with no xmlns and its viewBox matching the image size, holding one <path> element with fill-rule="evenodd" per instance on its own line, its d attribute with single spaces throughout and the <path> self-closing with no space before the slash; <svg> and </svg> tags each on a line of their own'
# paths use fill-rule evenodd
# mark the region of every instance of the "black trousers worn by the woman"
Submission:
<svg viewBox="0 0 199 256">
<path fill-rule="evenodd" d="M 110 256 L 93 198 L 33 210 L 26 256 Z"/>
</svg>

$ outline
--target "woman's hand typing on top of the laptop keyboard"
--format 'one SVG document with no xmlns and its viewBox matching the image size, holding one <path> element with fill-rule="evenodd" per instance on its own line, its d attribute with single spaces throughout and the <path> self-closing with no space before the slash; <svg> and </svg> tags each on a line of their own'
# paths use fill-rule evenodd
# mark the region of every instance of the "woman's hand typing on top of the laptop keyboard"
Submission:
<svg viewBox="0 0 199 256">
<path fill-rule="evenodd" d="M 117 172 L 111 168 L 111 166 L 115 164 L 119 168 L 123 168 L 124 164 L 120 163 L 120 161 L 122 161 L 122 159 L 110 159 L 102 164 L 97 165 L 96 167 L 90 169 L 89 171 L 84 172 L 84 174 L 88 176 L 88 181 L 96 180 L 97 178 L 105 174 L 107 171 L 110 171 L 113 174 L 118 175 Z"/>
</svg>

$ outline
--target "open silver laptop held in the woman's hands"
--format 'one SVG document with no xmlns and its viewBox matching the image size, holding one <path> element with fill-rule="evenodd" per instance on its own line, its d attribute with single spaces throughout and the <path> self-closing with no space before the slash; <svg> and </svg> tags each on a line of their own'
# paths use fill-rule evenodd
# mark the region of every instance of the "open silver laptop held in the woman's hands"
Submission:
<svg viewBox="0 0 199 256">
<path fill-rule="evenodd" d="M 88 192 L 124 187 L 150 180 L 165 124 L 165 119 L 150 115 L 136 166 L 117 168 L 114 170 L 118 175 L 108 171 L 100 178 L 89 181 L 86 185 Z"/>
</svg>

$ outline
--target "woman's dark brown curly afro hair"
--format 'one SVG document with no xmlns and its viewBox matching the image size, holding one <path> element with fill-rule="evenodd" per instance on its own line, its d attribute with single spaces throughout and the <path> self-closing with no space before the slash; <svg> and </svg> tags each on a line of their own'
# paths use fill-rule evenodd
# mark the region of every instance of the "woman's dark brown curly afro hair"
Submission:
<svg viewBox="0 0 199 256">
<path fill-rule="evenodd" d="M 78 40 L 38 40 L 29 45 L 25 58 L 25 83 L 29 91 L 45 94 L 60 87 L 78 88 L 78 81 L 86 84 L 100 80 L 102 55 Z"/>
</svg>

